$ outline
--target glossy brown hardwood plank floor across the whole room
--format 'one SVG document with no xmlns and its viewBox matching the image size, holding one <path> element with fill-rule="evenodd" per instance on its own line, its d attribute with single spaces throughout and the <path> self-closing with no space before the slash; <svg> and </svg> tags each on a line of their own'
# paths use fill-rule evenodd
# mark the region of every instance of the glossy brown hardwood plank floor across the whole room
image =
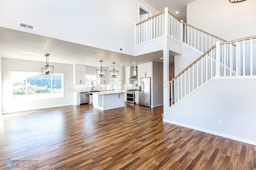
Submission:
<svg viewBox="0 0 256 170">
<path fill-rule="evenodd" d="M 164 123 L 161 114 L 162 107 L 137 104 L 106 111 L 83 105 L 3 114 L 0 169 L 6 169 L 7 159 L 37 160 L 35 169 L 56 170 L 256 168 L 254 145 Z"/>
</svg>

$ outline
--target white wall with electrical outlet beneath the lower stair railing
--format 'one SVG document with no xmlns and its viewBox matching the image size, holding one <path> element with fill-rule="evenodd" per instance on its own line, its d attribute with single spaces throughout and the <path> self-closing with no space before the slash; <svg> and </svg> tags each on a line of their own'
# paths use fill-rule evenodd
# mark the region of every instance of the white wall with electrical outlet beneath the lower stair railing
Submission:
<svg viewBox="0 0 256 170">
<path fill-rule="evenodd" d="M 164 121 L 256 145 L 255 86 L 256 77 L 214 79 L 166 111 Z"/>
</svg>

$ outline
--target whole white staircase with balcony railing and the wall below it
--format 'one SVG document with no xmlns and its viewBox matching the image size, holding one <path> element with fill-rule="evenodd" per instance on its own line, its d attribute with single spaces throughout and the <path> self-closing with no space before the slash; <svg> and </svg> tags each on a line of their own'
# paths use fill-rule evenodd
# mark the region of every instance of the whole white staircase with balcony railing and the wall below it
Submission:
<svg viewBox="0 0 256 170">
<path fill-rule="evenodd" d="M 163 36 L 202 54 L 168 82 L 164 121 L 256 145 L 256 36 L 225 41 L 168 8 L 136 24 L 136 45 Z"/>
</svg>

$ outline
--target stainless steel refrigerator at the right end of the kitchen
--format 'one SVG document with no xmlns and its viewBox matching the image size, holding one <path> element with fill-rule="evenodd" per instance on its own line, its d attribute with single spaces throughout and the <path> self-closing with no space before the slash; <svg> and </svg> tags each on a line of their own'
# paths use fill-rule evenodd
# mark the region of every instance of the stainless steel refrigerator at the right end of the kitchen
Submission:
<svg viewBox="0 0 256 170">
<path fill-rule="evenodd" d="M 150 107 L 150 104 L 151 104 L 150 92 L 151 92 L 150 78 L 140 78 L 139 105 Z"/>
</svg>

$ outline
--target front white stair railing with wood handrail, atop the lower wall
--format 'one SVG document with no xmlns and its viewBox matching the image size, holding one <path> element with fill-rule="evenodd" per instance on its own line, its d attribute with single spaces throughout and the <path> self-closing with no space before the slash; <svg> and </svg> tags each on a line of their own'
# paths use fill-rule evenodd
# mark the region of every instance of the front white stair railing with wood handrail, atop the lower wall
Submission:
<svg viewBox="0 0 256 170">
<path fill-rule="evenodd" d="M 216 42 L 170 82 L 170 106 L 213 77 L 256 76 L 256 36 Z"/>
</svg>

